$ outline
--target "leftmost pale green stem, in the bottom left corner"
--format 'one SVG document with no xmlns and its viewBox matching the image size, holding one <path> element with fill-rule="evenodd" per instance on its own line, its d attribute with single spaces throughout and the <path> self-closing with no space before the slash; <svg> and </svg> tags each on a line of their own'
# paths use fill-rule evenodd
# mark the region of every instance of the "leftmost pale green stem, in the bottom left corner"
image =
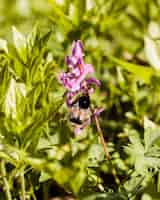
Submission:
<svg viewBox="0 0 160 200">
<path fill-rule="evenodd" d="M 2 178 L 3 178 L 3 182 L 4 182 L 4 191 L 6 194 L 6 199 L 7 200 L 12 200 L 12 196 L 10 193 L 10 187 L 6 178 L 6 168 L 5 168 L 5 161 L 1 160 L 1 173 L 2 173 Z"/>
</svg>

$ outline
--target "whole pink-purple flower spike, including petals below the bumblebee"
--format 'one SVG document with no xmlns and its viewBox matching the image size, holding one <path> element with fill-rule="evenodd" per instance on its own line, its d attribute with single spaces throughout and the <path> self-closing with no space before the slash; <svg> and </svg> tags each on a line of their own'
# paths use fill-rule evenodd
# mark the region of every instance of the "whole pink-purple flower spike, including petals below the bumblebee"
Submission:
<svg viewBox="0 0 160 200">
<path fill-rule="evenodd" d="M 94 68 L 91 64 L 86 64 L 84 62 L 84 50 L 83 44 L 80 40 L 74 41 L 72 44 L 72 54 L 66 56 L 66 64 L 68 66 L 68 71 L 63 72 L 59 76 L 60 82 L 66 88 L 66 103 L 69 110 L 75 105 L 75 102 L 79 101 L 80 98 L 84 96 L 90 96 L 94 92 L 95 86 L 100 86 L 101 83 L 95 77 L 90 76 L 94 73 Z M 83 108 L 82 108 L 83 109 Z M 92 119 L 103 111 L 103 108 L 96 108 L 90 111 L 90 117 L 85 120 L 85 122 L 76 126 L 74 131 L 79 134 L 85 127 L 87 127 Z M 86 115 L 87 116 L 87 115 Z M 75 119 L 81 121 L 80 119 Z"/>
</svg>

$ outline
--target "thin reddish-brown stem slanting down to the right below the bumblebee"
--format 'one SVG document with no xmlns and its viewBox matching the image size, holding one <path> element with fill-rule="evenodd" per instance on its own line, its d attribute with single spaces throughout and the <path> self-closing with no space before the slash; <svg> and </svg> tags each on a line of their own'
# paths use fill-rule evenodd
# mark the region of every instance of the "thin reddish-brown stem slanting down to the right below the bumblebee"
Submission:
<svg viewBox="0 0 160 200">
<path fill-rule="evenodd" d="M 100 137 L 100 140 L 101 140 L 101 144 L 103 146 L 106 158 L 107 158 L 107 160 L 109 160 L 110 159 L 109 152 L 108 152 L 107 145 L 105 143 L 105 140 L 104 140 L 104 137 L 103 137 L 103 132 L 102 132 L 102 129 L 100 127 L 99 120 L 98 120 L 97 116 L 95 116 L 95 122 L 96 122 L 98 134 L 99 134 L 99 137 Z"/>
</svg>

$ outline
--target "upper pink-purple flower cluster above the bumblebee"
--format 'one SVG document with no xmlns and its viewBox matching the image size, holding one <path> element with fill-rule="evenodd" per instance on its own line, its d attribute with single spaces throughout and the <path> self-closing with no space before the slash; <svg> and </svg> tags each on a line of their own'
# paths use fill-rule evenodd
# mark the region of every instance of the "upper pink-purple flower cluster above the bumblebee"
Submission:
<svg viewBox="0 0 160 200">
<path fill-rule="evenodd" d="M 88 92 L 93 91 L 90 85 L 96 84 L 100 86 L 100 81 L 90 77 L 86 78 L 88 75 L 94 72 L 93 66 L 91 64 L 86 64 L 83 60 L 83 44 L 80 40 L 74 41 L 72 45 L 71 56 L 66 57 L 66 64 L 69 68 L 68 72 L 63 72 L 59 76 L 60 82 L 67 89 L 67 105 L 72 104 L 71 97 L 74 97 L 78 92 Z M 85 89 L 84 89 L 85 85 Z"/>
</svg>

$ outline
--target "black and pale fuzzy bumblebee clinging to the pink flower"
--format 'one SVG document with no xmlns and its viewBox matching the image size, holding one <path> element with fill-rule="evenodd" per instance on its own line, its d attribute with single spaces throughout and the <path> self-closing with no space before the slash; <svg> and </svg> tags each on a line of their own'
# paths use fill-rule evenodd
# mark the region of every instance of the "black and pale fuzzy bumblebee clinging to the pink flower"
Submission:
<svg viewBox="0 0 160 200">
<path fill-rule="evenodd" d="M 91 122 L 90 97 L 83 94 L 78 97 L 70 108 L 70 122 L 75 130 L 82 131 Z"/>
</svg>

